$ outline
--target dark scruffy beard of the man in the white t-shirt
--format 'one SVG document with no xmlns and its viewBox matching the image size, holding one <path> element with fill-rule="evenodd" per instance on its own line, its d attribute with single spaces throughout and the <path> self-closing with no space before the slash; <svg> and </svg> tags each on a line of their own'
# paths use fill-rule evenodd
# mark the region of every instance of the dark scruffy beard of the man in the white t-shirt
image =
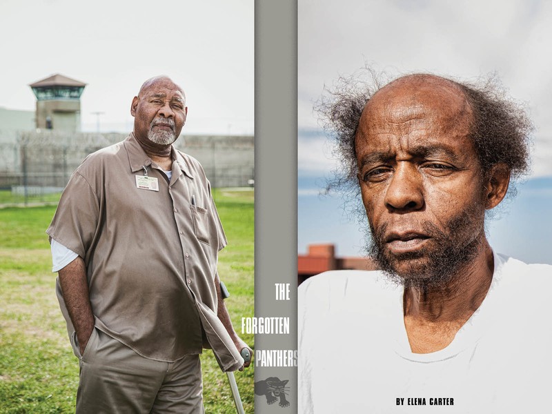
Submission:
<svg viewBox="0 0 552 414">
<path fill-rule="evenodd" d="M 389 279 L 405 288 L 423 292 L 451 288 L 451 282 L 475 259 L 484 240 L 484 226 L 480 224 L 475 208 L 453 217 L 446 224 L 446 232 L 425 222 L 424 233 L 431 236 L 431 245 L 417 252 L 392 255 L 384 242 L 387 224 L 378 229 L 371 226 L 368 254 Z M 401 261 L 411 262 L 407 272 L 398 273 Z"/>
</svg>

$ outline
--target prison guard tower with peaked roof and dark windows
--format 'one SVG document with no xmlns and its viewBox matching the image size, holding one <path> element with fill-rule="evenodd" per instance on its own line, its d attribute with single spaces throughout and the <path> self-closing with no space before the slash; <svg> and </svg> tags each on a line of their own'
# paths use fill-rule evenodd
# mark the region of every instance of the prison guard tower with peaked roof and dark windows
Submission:
<svg viewBox="0 0 552 414">
<path fill-rule="evenodd" d="M 64 132 L 81 130 L 81 94 L 86 83 L 58 73 L 29 86 L 37 97 L 37 128 Z"/>
</svg>

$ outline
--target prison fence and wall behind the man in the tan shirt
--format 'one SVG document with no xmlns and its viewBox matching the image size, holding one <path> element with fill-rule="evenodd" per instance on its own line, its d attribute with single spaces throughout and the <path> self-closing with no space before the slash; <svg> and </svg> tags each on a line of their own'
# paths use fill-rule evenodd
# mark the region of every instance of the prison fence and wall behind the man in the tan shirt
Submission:
<svg viewBox="0 0 552 414">
<path fill-rule="evenodd" d="M 0 134 L 0 206 L 57 203 L 87 155 L 125 138 L 55 131 Z M 182 136 L 176 146 L 199 160 L 213 188 L 253 186 L 253 137 Z"/>
</svg>

